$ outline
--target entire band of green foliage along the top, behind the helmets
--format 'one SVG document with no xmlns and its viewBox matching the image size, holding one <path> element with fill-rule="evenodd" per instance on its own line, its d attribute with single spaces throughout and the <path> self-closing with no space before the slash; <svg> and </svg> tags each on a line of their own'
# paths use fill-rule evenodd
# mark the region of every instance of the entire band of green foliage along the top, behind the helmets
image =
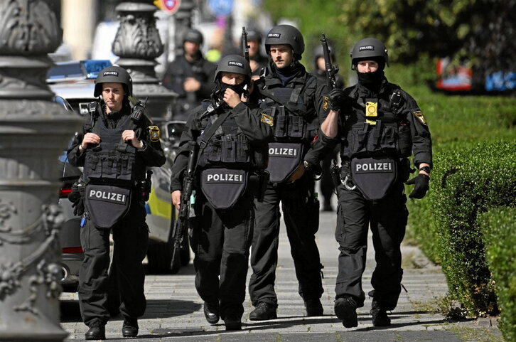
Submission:
<svg viewBox="0 0 516 342">
<path fill-rule="evenodd" d="M 321 32 L 337 40 L 345 73 L 350 48 L 368 36 L 384 41 L 393 62 L 454 56 L 471 60 L 480 76 L 514 71 L 516 0 L 264 0 L 264 7 L 274 21 L 298 21 L 309 48 Z"/>
</svg>

